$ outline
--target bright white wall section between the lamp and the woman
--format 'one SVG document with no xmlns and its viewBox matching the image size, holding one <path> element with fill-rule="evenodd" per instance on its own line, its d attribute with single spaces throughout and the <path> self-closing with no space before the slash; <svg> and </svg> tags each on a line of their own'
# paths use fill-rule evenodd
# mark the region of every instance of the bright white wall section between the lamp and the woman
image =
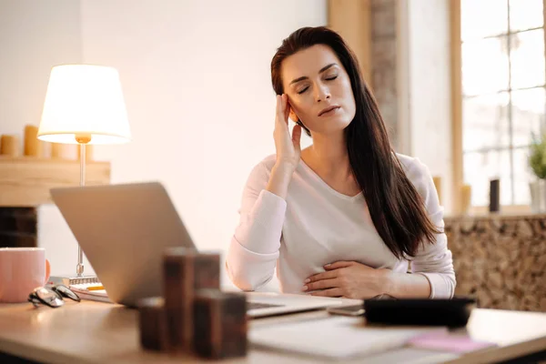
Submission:
<svg viewBox="0 0 546 364">
<path fill-rule="evenodd" d="M 227 248 L 248 173 L 275 152 L 271 57 L 326 24 L 325 1 L 81 4 L 83 61 L 118 69 L 134 137 L 96 158 L 115 183 L 163 182 L 197 247 Z"/>
</svg>

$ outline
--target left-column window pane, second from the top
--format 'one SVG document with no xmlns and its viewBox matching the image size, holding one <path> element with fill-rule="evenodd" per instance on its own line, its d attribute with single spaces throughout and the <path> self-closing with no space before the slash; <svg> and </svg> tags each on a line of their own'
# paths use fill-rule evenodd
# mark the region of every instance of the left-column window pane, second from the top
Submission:
<svg viewBox="0 0 546 364">
<path fill-rule="evenodd" d="M 507 38 L 489 38 L 462 44 L 462 92 L 490 94 L 508 90 Z"/>
</svg>

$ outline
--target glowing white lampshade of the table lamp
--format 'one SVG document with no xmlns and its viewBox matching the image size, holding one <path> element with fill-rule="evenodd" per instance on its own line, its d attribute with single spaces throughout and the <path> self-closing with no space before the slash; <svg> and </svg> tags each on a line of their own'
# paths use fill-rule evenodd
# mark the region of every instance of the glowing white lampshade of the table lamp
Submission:
<svg viewBox="0 0 546 364">
<path fill-rule="evenodd" d="M 94 65 L 55 66 L 49 76 L 38 139 L 77 144 L 128 142 L 131 131 L 115 68 Z"/>
</svg>

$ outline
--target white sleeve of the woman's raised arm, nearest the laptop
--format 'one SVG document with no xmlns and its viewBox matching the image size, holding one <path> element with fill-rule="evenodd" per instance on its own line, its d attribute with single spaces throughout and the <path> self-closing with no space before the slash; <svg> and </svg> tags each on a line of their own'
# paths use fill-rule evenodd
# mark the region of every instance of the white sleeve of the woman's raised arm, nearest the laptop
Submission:
<svg viewBox="0 0 546 364">
<path fill-rule="evenodd" d="M 287 203 L 265 189 L 269 175 L 263 163 L 250 173 L 239 209 L 239 224 L 227 249 L 227 275 L 243 290 L 256 290 L 267 284 L 277 265 Z"/>
</svg>

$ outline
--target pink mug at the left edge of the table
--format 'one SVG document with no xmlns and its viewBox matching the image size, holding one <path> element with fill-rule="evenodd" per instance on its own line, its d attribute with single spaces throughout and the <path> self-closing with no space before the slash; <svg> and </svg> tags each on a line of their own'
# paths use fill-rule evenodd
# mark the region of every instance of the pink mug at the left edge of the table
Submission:
<svg viewBox="0 0 546 364">
<path fill-rule="evenodd" d="M 49 272 L 45 248 L 0 248 L 0 303 L 26 302 Z"/>
</svg>

